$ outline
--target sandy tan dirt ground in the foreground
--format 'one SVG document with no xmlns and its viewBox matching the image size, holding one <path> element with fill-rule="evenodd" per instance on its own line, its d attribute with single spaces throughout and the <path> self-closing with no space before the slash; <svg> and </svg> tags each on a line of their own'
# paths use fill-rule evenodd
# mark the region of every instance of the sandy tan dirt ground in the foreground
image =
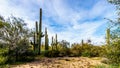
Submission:
<svg viewBox="0 0 120 68">
<path fill-rule="evenodd" d="M 13 68 L 95 68 L 102 64 L 100 58 L 60 57 L 42 58 L 30 63 L 15 65 Z"/>
</svg>

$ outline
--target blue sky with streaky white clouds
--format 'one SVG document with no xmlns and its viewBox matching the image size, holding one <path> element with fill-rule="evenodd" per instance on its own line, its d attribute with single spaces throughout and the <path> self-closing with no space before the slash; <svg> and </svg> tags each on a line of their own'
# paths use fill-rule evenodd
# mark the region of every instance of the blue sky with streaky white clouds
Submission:
<svg viewBox="0 0 120 68">
<path fill-rule="evenodd" d="M 39 21 L 39 8 L 43 10 L 43 31 L 48 28 L 51 39 L 80 43 L 91 39 L 93 44 L 105 42 L 107 20 L 115 18 L 115 6 L 107 0 L 0 0 L 0 15 L 13 15 L 25 20 L 30 29 Z"/>
</svg>

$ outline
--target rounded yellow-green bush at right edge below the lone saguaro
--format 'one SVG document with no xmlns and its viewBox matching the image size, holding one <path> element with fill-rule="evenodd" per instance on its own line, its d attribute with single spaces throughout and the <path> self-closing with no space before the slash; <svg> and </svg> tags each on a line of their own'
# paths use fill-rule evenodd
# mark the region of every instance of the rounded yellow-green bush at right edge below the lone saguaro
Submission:
<svg viewBox="0 0 120 68">
<path fill-rule="evenodd" d="M 106 57 L 110 60 L 110 63 L 120 63 L 120 40 L 108 45 L 106 55 Z"/>
</svg>

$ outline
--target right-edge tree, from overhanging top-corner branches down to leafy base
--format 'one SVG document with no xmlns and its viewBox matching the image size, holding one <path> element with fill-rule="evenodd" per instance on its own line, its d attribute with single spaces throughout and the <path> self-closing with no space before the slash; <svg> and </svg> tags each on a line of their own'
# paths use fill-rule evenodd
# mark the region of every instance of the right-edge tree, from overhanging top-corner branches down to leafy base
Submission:
<svg viewBox="0 0 120 68">
<path fill-rule="evenodd" d="M 120 0 L 108 0 L 109 3 L 116 6 L 117 16 L 115 20 L 110 20 L 110 46 L 107 51 L 107 58 L 111 63 L 119 64 L 120 63 Z"/>
</svg>

